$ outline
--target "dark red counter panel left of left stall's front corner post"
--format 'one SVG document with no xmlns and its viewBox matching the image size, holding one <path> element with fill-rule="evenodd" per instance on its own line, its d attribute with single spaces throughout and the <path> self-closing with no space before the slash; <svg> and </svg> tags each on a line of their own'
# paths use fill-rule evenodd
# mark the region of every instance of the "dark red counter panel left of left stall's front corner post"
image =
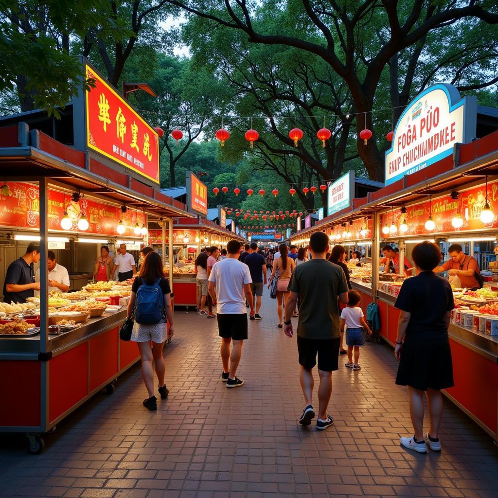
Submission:
<svg viewBox="0 0 498 498">
<path fill-rule="evenodd" d="M 40 362 L 0 362 L 0 426 L 40 426 L 40 376 Z"/>
</svg>

